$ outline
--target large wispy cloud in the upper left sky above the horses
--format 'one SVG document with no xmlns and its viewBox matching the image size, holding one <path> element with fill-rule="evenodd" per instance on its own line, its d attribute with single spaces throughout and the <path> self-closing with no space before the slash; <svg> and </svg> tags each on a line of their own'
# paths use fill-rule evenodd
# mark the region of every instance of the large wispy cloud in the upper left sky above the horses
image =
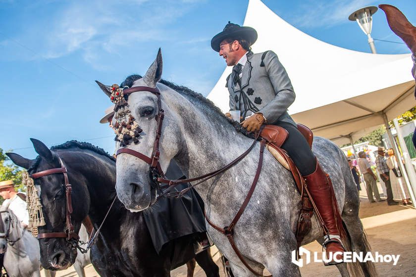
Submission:
<svg viewBox="0 0 416 277">
<path fill-rule="evenodd" d="M 85 62 L 105 69 L 100 54 L 122 55 L 125 47 L 168 38 L 172 35 L 169 24 L 200 1 L 70 1 L 48 20 L 37 20 L 10 40 L 0 42 L 0 46 L 19 42 L 36 53 L 16 56 L 28 60 L 55 59 L 78 51 Z"/>
</svg>

